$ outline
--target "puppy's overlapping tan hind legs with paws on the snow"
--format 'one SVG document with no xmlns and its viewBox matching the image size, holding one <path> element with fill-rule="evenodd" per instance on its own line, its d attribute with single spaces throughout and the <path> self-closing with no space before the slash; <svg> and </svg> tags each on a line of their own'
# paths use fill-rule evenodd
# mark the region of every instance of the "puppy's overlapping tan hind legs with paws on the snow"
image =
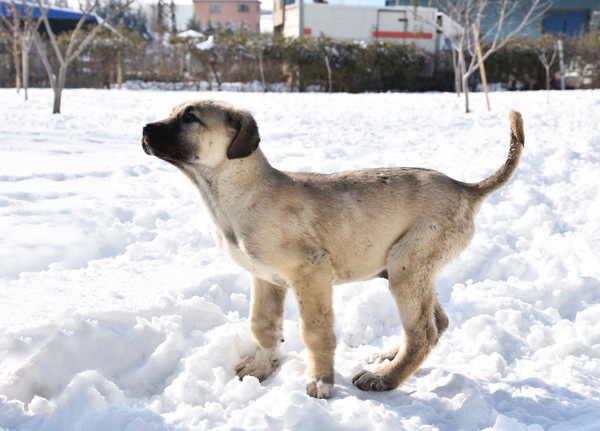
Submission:
<svg viewBox="0 0 600 431">
<path fill-rule="evenodd" d="M 421 241 L 413 241 L 415 238 Z M 439 249 L 424 247 L 423 239 L 422 235 L 408 234 L 388 254 L 390 290 L 400 311 L 404 346 L 376 357 L 390 362 L 374 373 L 363 371 L 353 378 L 352 382 L 362 390 L 396 388 L 421 366 L 448 327 L 435 291 Z M 431 247 L 431 242 L 427 243 Z"/>
</svg>

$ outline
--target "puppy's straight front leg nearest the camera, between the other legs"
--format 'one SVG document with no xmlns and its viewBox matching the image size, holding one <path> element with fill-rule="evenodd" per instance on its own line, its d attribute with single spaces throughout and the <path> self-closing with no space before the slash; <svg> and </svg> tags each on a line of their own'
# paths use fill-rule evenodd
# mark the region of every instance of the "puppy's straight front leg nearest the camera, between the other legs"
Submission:
<svg viewBox="0 0 600 431">
<path fill-rule="evenodd" d="M 329 398 L 333 389 L 335 334 L 332 285 L 326 277 L 306 277 L 293 285 L 300 309 L 300 331 L 309 353 L 306 392 Z"/>
</svg>

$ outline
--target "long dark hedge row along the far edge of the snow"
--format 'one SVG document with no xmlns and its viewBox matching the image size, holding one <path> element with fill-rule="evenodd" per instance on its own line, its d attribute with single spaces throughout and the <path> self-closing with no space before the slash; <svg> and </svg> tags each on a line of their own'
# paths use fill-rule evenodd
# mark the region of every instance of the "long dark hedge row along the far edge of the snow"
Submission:
<svg viewBox="0 0 600 431">
<path fill-rule="evenodd" d="M 600 41 L 588 35 L 565 41 L 566 63 L 587 67 L 586 86 L 600 87 Z M 182 83 L 188 88 L 219 89 L 224 83 L 254 83 L 262 91 L 385 92 L 453 90 L 450 52 L 437 56 L 414 46 L 360 43 L 327 38 L 289 39 L 273 35 L 221 32 L 211 49 L 197 41 L 127 41 L 102 34 L 69 69 L 68 87 L 110 88 L 123 81 Z M 0 86 L 15 85 L 12 46 L 0 39 Z M 537 58 L 539 41 L 517 40 L 485 63 L 488 80 L 507 89 L 545 88 L 545 69 Z M 30 86 L 48 78 L 32 50 Z M 553 65 L 553 72 L 558 64 Z M 591 72 L 590 72 L 591 71 Z M 554 77 L 554 73 L 552 75 Z M 557 87 L 557 80 L 553 80 Z M 473 77 L 470 85 L 477 85 Z"/>
</svg>

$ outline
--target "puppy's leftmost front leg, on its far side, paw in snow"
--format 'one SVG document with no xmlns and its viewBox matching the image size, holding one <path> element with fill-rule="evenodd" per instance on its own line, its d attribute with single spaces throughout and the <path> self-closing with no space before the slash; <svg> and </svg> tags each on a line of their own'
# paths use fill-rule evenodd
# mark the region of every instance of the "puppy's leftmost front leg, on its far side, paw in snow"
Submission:
<svg viewBox="0 0 600 431">
<path fill-rule="evenodd" d="M 262 381 L 279 365 L 278 351 L 283 342 L 286 292 L 285 287 L 254 278 L 250 329 L 258 343 L 258 351 L 254 357 L 246 358 L 235 368 L 240 379 L 250 375 Z"/>
</svg>

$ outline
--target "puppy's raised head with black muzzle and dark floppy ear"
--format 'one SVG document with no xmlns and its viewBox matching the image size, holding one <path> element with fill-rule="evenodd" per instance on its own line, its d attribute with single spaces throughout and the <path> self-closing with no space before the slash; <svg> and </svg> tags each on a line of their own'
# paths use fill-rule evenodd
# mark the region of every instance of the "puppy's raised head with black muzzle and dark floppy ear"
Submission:
<svg viewBox="0 0 600 431">
<path fill-rule="evenodd" d="M 225 160 L 248 157 L 259 142 L 256 121 L 249 112 L 211 100 L 175 107 L 164 120 L 146 124 L 142 135 L 147 154 L 178 167 L 216 168 Z"/>
</svg>

